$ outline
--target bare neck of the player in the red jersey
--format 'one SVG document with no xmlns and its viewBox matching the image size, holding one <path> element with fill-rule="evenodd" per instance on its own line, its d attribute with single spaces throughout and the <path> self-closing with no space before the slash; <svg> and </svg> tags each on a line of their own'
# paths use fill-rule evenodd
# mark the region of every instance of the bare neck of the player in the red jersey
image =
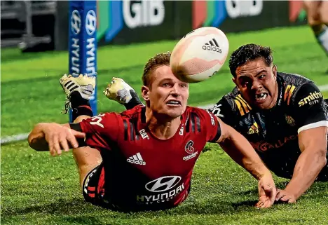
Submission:
<svg viewBox="0 0 328 225">
<path fill-rule="evenodd" d="M 153 135 L 158 139 L 169 139 L 173 137 L 181 123 L 180 117 L 165 118 L 164 116 L 153 114 L 151 109 L 146 108 L 146 123 Z"/>
</svg>

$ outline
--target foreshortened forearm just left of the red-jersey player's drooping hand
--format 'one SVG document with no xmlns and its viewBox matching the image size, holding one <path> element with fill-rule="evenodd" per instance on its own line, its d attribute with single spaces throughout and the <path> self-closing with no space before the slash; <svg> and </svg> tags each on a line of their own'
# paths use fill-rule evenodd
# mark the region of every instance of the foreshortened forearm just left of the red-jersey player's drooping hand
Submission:
<svg viewBox="0 0 328 225">
<path fill-rule="evenodd" d="M 43 128 L 47 123 L 38 123 L 29 133 L 27 138 L 29 146 L 36 151 L 48 151 L 48 142 L 43 132 Z"/>
</svg>

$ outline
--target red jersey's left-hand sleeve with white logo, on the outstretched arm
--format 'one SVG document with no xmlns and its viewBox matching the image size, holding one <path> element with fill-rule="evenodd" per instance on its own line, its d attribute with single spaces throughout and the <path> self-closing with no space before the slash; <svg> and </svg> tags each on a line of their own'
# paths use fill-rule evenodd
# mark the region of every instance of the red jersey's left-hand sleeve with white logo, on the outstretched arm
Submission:
<svg viewBox="0 0 328 225">
<path fill-rule="evenodd" d="M 119 116 L 115 113 L 99 114 L 80 123 L 70 123 L 71 129 L 86 133 L 85 145 L 102 150 L 111 150 L 119 134 Z"/>
</svg>

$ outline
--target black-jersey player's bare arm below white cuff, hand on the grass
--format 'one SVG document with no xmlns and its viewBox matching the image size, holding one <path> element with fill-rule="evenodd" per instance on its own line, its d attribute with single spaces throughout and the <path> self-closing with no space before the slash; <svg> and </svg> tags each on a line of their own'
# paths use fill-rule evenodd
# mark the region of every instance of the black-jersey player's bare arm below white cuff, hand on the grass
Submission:
<svg viewBox="0 0 328 225">
<path fill-rule="evenodd" d="M 299 147 L 302 153 L 296 162 L 293 177 L 285 190 L 279 190 L 276 200 L 294 203 L 313 184 L 327 163 L 327 127 L 301 131 Z"/>
</svg>

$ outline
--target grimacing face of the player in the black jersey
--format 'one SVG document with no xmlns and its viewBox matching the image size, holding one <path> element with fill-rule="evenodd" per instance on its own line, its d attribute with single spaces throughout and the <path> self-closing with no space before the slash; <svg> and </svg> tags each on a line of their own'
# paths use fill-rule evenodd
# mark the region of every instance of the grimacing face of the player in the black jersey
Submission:
<svg viewBox="0 0 328 225">
<path fill-rule="evenodd" d="M 268 66 L 262 59 L 238 67 L 233 82 L 242 97 L 253 107 L 271 109 L 278 98 L 277 67 Z"/>
</svg>

